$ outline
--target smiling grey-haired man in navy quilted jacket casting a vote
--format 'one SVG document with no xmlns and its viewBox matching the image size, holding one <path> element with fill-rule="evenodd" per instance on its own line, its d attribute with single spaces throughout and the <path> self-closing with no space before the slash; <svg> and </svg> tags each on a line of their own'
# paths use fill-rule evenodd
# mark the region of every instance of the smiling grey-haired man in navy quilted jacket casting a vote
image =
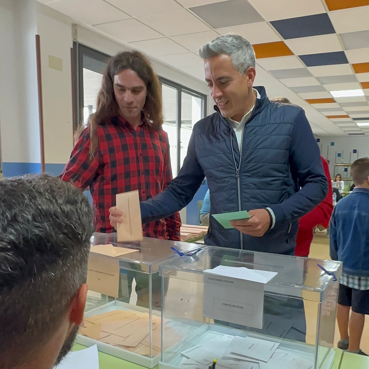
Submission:
<svg viewBox="0 0 369 369">
<path fill-rule="evenodd" d="M 253 88 L 255 53 L 241 36 L 217 37 L 199 52 L 216 112 L 194 126 L 178 176 L 141 203 L 142 220 L 182 209 L 207 177 L 210 215 L 247 210 L 251 218 L 231 221 L 228 230 L 210 216 L 206 244 L 294 255 L 299 218 L 328 189 L 304 110 Z M 110 209 L 114 227 L 121 215 Z"/>
</svg>

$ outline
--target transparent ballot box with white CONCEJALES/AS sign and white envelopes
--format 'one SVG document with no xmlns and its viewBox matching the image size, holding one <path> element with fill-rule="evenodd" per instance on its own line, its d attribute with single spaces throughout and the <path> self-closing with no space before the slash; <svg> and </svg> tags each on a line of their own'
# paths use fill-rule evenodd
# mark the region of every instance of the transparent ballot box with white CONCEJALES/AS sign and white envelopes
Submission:
<svg viewBox="0 0 369 369">
<path fill-rule="evenodd" d="M 160 368 L 330 369 L 341 270 L 213 246 L 163 263 Z"/>
</svg>

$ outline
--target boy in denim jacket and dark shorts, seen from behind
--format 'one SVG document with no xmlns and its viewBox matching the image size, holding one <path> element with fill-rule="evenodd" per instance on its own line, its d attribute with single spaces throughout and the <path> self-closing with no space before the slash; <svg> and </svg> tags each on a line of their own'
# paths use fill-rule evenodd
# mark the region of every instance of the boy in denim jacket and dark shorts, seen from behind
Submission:
<svg viewBox="0 0 369 369">
<path fill-rule="evenodd" d="M 351 166 L 355 188 L 337 203 L 330 223 L 330 255 L 343 262 L 339 284 L 338 348 L 366 355 L 360 349 L 365 315 L 369 315 L 369 159 Z M 350 316 L 351 309 L 351 316 Z"/>
</svg>

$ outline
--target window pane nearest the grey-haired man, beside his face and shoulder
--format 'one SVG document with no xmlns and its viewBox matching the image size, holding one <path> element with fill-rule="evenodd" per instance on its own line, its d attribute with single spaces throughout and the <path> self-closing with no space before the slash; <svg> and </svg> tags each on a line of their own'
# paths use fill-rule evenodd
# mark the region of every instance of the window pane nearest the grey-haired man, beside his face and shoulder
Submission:
<svg viewBox="0 0 369 369">
<path fill-rule="evenodd" d="M 187 155 L 188 143 L 192 134 L 192 128 L 201 118 L 201 97 L 195 97 L 182 92 L 181 97 L 181 147 L 180 147 L 180 163 Z"/>
</svg>

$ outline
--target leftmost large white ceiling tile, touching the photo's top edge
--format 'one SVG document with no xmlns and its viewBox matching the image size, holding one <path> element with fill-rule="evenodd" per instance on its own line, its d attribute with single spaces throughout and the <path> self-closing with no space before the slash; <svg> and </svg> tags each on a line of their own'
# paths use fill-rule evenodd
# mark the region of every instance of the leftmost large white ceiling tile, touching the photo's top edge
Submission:
<svg viewBox="0 0 369 369">
<path fill-rule="evenodd" d="M 103 0 L 59 0 L 47 5 L 89 25 L 130 18 L 128 14 Z"/>
</svg>

